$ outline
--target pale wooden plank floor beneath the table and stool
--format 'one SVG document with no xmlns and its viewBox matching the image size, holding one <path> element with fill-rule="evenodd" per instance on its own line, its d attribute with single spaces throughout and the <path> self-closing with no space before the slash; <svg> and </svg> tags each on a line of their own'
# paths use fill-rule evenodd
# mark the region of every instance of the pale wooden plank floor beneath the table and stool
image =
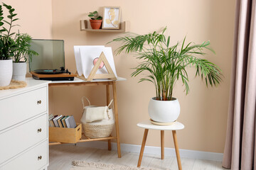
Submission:
<svg viewBox="0 0 256 170">
<path fill-rule="evenodd" d="M 73 160 L 83 160 L 87 162 L 105 162 L 107 164 L 122 164 L 127 166 L 137 166 L 139 153 L 122 152 L 122 158 L 117 158 L 117 151 L 93 149 L 86 147 L 75 147 L 73 145 L 50 146 L 49 170 L 69 170 Z M 158 169 L 178 169 L 176 157 L 165 157 L 160 159 L 160 155 L 144 154 L 142 166 L 155 167 Z M 221 162 L 207 161 L 201 159 L 181 158 L 183 170 L 218 170 L 223 169 Z"/>
</svg>

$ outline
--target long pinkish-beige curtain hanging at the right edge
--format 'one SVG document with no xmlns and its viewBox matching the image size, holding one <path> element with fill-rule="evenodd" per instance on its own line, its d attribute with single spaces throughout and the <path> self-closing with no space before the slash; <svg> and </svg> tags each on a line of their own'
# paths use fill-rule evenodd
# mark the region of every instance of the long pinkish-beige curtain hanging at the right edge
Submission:
<svg viewBox="0 0 256 170">
<path fill-rule="evenodd" d="M 256 0 L 237 0 L 223 167 L 256 169 Z"/>
</svg>

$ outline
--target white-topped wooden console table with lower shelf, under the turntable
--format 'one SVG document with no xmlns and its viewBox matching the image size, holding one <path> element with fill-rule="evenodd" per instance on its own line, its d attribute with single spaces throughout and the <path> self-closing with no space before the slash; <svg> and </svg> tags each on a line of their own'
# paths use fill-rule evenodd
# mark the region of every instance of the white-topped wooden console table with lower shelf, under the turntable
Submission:
<svg viewBox="0 0 256 170">
<path fill-rule="evenodd" d="M 108 141 L 108 149 L 111 150 L 111 140 L 117 140 L 117 153 L 118 157 L 121 157 L 121 149 L 120 149 L 120 138 L 119 138 L 119 123 L 118 123 L 118 111 L 117 111 L 117 91 L 116 91 L 116 82 L 117 81 L 124 81 L 126 79 L 122 77 L 117 77 L 116 81 L 112 81 L 110 79 L 102 79 L 102 80 L 92 80 L 92 81 L 84 81 L 82 79 L 78 79 L 75 77 L 74 81 L 52 81 L 49 84 L 51 86 L 98 86 L 98 85 L 105 85 L 106 86 L 106 93 L 107 93 L 107 105 L 110 103 L 110 85 L 112 85 L 113 91 L 113 99 L 114 99 L 114 117 L 115 117 L 115 130 L 116 136 L 110 137 L 102 137 L 102 138 L 95 138 L 95 139 L 87 139 L 86 137 L 82 137 L 81 140 L 78 142 L 90 142 L 90 141 L 97 141 L 97 140 L 107 140 Z M 49 145 L 59 145 L 60 142 L 50 142 Z"/>
</svg>

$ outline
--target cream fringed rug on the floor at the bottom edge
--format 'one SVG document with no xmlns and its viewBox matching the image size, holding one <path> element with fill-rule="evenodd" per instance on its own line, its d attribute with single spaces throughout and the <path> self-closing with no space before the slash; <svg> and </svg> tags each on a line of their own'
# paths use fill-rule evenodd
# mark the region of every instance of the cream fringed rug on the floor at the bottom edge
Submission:
<svg viewBox="0 0 256 170">
<path fill-rule="evenodd" d="M 136 166 L 124 166 L 124 165 L 117 165 L 117 164 L 105 164 L 101 162 L 85 162 L 85 161 L 73 161 L 73 168 L 70 170 L 160 170 L 160 169 L 153 169 L 153 168 L 146 168 L 146 167 L 139 167 Z"/>
</svg>

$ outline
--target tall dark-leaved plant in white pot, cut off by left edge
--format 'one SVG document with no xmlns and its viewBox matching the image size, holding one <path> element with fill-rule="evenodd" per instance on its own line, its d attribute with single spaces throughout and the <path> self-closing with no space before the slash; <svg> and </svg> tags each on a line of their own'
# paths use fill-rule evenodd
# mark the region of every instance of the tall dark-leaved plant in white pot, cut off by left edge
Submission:
<svg viewBox="0 0 256 170">
<path fill-rule="evenodd" d="M 14 50 L 16 44 L 11 33 L 11 28 L 17 25 L 13 25 L 14 21 L 17 21 L 18 18 L 15 18 L 17 15 L 14 13 L 15 9 L 9 5 L 3 3 L 3 6 L 9 11 L 9 21 L 4 20 L 4 13 L 2 5 L 0 5 L 0 86 L 8 86 L 11 82 L 12 77 L 12 60 L 11 57 L 14 56 Z M 9 25 L 9 28 L 4 27 L 4 23 Z"/>
</svg>

